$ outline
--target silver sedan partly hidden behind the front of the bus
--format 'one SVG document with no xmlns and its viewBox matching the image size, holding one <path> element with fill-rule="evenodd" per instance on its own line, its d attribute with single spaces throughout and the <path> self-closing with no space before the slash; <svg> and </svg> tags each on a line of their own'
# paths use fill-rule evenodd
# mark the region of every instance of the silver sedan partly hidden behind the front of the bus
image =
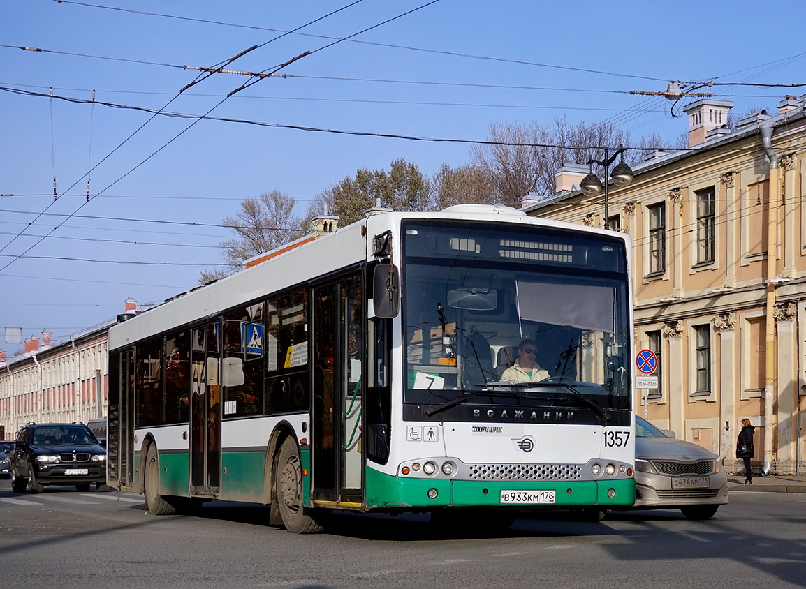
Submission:
<svg viewBox="0 0 806 589">
<path fill-rule="evenodd" d="M 679 509 L 707 520 L 728 503 L 728 475 L 713 452 L 635 418 L 634 509 Z"/>
</svg>

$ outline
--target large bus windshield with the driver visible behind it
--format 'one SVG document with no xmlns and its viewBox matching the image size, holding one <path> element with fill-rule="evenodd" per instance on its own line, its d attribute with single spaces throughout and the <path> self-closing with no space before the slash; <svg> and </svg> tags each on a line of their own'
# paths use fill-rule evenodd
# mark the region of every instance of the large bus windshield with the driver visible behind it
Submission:
<svg viewBox="0 0 806 589">
<path fill-rule="evenodd" d="M 404 256 L 405 402 L 629 407 L 621 239 L 420 221 L 405 226 Z"/>
</svg>

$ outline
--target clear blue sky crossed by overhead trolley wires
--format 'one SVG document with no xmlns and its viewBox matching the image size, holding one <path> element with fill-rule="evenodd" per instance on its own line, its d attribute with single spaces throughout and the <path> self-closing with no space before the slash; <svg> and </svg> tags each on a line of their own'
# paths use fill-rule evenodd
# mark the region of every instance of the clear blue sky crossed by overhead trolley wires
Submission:
<svg viewBox="0 0 806 589">
<path fill-rule="evenodd" d="M 293 127 L 473 141 L 492 122 L 565 115 L 672 144 L 685 117 L 630 90 L 806 81 L 802 19 L 775 6 L 762 15 L 758 2 L 426 3 L 2 0 L 0 328 L 64 341 L 122 312 L 127 297 L 156 303 L 192 288 L 220 263 L 229 234 L 218 225 L 244 198 L 276 189 L 304 209 L 357 168 L 405 158 L 430 175 L 470 160 L 469 143 Z M 226 100 L 249 79 L 217 73 L 177 96 L 199 72 L 175 66 L 220 65 L 254 45 L 226 68 L 272 71 L 310 55 Z M 92 101 L 93 89 L 94 105 L 58 98 Z M 744 113 L 806 89 L 713 93 Z M 196 115 L 221 102 L 211 117 L 270 126 L 189 127 L 100 102 Z"/>
</svg>

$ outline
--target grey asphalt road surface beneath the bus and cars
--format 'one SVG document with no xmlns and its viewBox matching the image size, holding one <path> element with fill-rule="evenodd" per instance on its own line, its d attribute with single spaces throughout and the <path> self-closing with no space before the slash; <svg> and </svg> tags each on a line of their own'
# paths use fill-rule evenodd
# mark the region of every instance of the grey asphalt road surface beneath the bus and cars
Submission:
<svg viewBox="0 0 806 589">
<path fill-rule="evenodd" d="M 152 516 L 142 497 L 0 481 L 2 587 L 806 587 L 806 495 L 742 492 L 710 521 L 678 511 L 523 516 L 503 533 L 349 515 L 327 533 L 214 502 Z"/>
</svg>

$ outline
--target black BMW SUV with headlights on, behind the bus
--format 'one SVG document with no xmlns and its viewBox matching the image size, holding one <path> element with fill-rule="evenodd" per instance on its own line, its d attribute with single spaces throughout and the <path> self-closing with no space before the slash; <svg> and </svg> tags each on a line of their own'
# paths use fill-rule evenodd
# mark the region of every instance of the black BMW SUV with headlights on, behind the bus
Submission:
<svg viewBox="0 0 806 589">
<path fill-rule="evenodd" d="M 11 488 L 42 492 L 44 485 L 106 485 L 106 448 L 83 423 L 27 423 L 11 454 Z"/>
</svg>

